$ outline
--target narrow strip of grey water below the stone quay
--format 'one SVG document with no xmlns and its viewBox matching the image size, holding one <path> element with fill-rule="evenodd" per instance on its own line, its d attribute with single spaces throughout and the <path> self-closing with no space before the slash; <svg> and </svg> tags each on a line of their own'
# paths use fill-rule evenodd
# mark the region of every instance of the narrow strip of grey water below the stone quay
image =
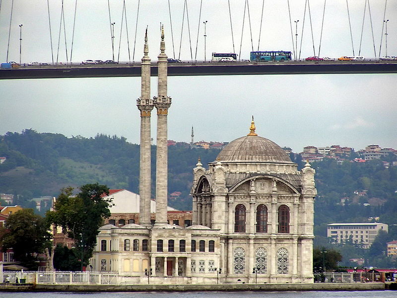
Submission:
<svg viewBox="0 0 397 298">
<path fill-rule="evenodd" d="M 0 298 L 397 298 L 396 291 L 1 293 Z"/>
</svg>

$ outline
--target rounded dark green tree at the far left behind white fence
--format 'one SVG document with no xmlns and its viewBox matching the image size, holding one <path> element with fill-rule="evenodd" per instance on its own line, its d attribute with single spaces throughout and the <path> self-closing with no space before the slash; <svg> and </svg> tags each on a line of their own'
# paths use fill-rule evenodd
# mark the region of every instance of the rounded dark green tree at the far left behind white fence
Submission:
<svg viewBox="0 0 397 298">
<path fill-rule="evenodd" d="M 51 245 L 50 225 L 33 209 L 22 209 L 11 214 L 6 230 L 1 236 L 2 250 L 13 249 L 15 260 L 32 270 L 37 270 L 37 253 L 43 253 Z"/>
</svg>

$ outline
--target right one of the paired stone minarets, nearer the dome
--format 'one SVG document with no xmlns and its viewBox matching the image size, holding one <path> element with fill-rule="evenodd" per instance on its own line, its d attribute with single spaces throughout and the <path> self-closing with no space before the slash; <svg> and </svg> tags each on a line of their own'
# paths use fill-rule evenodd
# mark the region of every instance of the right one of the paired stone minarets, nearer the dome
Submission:
<svg viewBox="0 0 397 298">
<path fill-rule="evenodd" d="M 156 154 L 156 224 L 167 224 L 168 148 L 167 115 L 171 97 L 167 96 L 167 55 L 165 54 L 164 27 L 161 26 L 160 54 L 158 55 L 158 95 L 153 98 L 157 109 Z"/>
</svg>

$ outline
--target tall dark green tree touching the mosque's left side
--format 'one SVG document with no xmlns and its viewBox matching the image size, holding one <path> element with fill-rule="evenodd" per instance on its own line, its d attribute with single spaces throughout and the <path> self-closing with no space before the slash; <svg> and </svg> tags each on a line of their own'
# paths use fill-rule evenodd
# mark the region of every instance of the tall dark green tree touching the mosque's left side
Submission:
<svg viewBox="0 0 397 298">
<path fill-rule="evenodd" d="M 85 184 L 79 189 L 76 195 L 73 195 L 72 187 L 63 189 L 54 211 L 47 212 L 46 218 L 49 224 L 61 226 L 63 232 L 75 240 L 75 250 L 79 251 L 79 258 L 82 256 L 85 266 L 92 256 L 98 228 L 103 224 L 103 219 L 110 216 L 112 200 L 103 198 L 109 194 L 106 185 Z"/>
</svg>

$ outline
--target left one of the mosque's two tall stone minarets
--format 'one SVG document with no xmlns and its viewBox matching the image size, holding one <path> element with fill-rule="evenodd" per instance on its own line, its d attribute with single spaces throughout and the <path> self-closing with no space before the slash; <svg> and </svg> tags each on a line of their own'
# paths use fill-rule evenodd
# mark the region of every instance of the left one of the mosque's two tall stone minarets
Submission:
<svg viewBox="0 0 397 298">
<path fill-rule="evenodd" d="M 150 98 L 150 58 L 147 44 L 147 28 L 145 45 L 141 59 L 141 96 L 136 100 L 140 111 L 140 159 L 139 159 L 139 224 L 150 225 L 150 113 L 153 100 Z"/>
</svg>

